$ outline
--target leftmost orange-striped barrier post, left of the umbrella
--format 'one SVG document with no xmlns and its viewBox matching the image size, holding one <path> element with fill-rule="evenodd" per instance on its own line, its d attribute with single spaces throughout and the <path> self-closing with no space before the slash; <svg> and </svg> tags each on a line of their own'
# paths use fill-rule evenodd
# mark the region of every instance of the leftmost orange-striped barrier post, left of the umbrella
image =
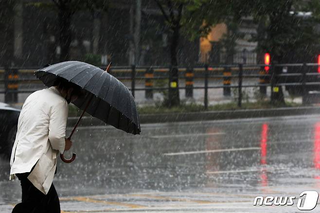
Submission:
<svg viewBox="0 0 320 213">
<path fill-rule="evenodd" d="M 18 70 L 6 68 L 4 70 L 4 102 L 18 102 Z"/>
</svg>

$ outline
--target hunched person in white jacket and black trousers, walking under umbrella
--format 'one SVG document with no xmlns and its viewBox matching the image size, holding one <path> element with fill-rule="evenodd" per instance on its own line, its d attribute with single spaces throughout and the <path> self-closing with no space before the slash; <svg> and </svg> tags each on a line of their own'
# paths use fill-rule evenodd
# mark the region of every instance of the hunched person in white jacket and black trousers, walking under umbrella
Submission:
<svg viewBox="0 0 320 213">
<path fill-rule="evenodd" d="M 20 180 L 22 202 L 13 213 L 60 213 L 53 186 L 57 155 L 71 148 L 65 138 L 68 104 L 82 96 L 82 89 L 63 78 L 25 100 L 10 160 L 10 180 Z"/>
</svg>

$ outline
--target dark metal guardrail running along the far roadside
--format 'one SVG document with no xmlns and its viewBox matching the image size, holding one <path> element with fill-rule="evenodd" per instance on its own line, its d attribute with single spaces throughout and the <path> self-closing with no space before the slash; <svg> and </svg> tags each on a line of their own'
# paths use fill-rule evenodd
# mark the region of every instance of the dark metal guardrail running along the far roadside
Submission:
<svg viewBox="0 0 320 213">
<path fill-rule="evenodd" d="M 259 65 L 219 65 L 203 67 L 178 67 L 178 80 L 185 80 L 185 86 L 175 86 L 170 84 L 170 70 L 172 67 L 113 67 L 110 69 L 110 74 L 117 77 L 119 80 L 131 81 L 132 95 L 135 96 L 135 91 L 144 90 L 146 98 L 153 98 L 153 90 L 169 90 L 169 89 L 185 89 L 186 96 L 193 96 L 193 89 L 204 89 L 204 106 L 208 107 L 208 89 L 223 88 L 224 95 L 230 95 L 231 88 L 238 89 L 238 106 L 242 104 L 242 89 L 259 87 L 262 94 L 266 94 L 267 87 L 271 87 L 271 92 L 276 93 L 280 86 L 301 87 L 302 97 L 305 97 L 307 86 L 318 86 L 320 88 L 320 73 L 317 72 L 318 64 L 303 63 L 303 64 L 259 64 Z M 285 69 L 290 71 L 294 68 L 294 72 L 283 72 Z M 0 93 L 5 94 L 5 102 L 17 102 L 18 93 L 31 93 L 35 89 L 18 89 L 19 84 L 37 84 L 42 83 L 32 77 L 26 77 L 27 74 L 32 74 L 39 68 L 0 68 L 0 84 L 4 84 L 4 89 Z M 104 69 L 104 68 L 101 68 Z M 298 70 L 297 70 L 298 69 Z M 24 76 L 21 78 L 21 76 Z M 222 79 L 222 85 L 209 86 L 210 79 Z M 231 85 L 231 79 L 237 78 L 238 84 Z M 259 78 L 256 84 L 243 85 L 244 78 Z M 290 78 L 290 80 L 288 80 Z M 319 81 L 318 81 L 319 78 Z M 154 87 L 155 80 L 169 80 L 167 87 Z M 195 79 L 202 79 L 203 87 L 194 86 Z M 282 80 L 284 79 L 284 80 Z M 292 81 L 294 79 L 294 81 Z M 136 81 L 144 80 L 143 88 L 136 88 Z M 271 95 L 271 101 L 273 96 Z M 304 100 L 304 99 L 302 99 Z"/>
</svg>

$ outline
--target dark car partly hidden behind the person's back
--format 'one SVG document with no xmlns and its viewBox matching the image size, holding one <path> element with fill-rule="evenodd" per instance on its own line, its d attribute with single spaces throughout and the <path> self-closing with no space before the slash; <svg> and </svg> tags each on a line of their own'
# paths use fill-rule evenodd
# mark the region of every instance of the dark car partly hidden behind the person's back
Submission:
<svg viewBox="0 0 320 213">
<path fill-rule="evenodd" d="M 16 139 L 20 110 L 0 102 L 0 153 L 11 155 Z"/>
</svg>

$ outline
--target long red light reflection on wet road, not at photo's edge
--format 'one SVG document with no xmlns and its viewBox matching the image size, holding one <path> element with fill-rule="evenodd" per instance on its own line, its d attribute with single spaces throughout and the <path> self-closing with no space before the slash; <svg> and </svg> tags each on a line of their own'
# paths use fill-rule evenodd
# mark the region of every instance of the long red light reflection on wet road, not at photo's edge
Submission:
<svg viewBox="0 0 320 213">
<path fill-rule="evenodd" d="M 267 171 L 264 165 L 267 164 L 267 141 L 268 141 L 268 124 L 262 124 L 261 127 L 261 140 L 260 140 L 260 164 L 262 170 L 260 174 L 261 186 L 268 185 Z"/>
</svg>

